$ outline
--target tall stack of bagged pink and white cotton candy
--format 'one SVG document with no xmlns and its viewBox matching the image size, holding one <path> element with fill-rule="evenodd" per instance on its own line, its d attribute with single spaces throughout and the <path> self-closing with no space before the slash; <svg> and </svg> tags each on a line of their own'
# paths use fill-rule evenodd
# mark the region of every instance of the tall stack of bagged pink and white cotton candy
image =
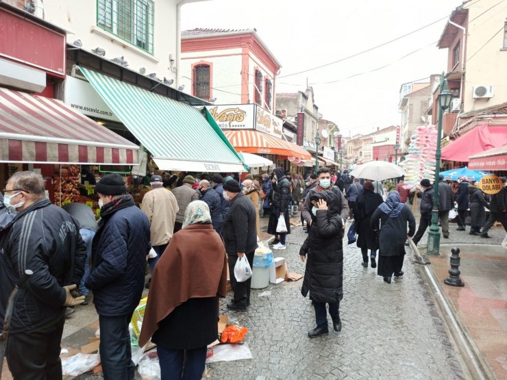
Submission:
<svg viewBox="0 0 507 380">
<path fill-rule="evenodd" d="M 434 179 L 438 132 L 434 125 L 421 125 L 410 136 L 405 160 L 405 188 L 412 189 L 421 179 Z"/>
</svg>

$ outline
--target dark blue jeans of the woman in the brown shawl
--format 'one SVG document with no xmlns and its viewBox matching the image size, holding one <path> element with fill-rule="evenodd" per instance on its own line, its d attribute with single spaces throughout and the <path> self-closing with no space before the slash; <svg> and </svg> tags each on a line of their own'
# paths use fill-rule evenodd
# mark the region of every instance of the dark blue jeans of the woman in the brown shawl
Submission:
<svg viewBox="0 0 507 380">
<path fill-rule="evenodd" d="M 157 346 L 157 353 L 162 380 L 201 380 L 206 365 L 206 347 L 193 350 L 166 350 Z M 183 364 L 185 364 L 184 372 Z"/>
</svg>

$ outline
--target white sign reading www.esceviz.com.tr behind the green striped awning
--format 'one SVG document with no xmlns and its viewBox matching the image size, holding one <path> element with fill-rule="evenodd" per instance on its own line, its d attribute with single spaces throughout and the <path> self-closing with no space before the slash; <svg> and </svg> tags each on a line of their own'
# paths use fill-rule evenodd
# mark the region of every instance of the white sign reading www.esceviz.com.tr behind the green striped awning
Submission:
<svg viewBox="0 0 507 380">
<path fill-rule="evenodd" d="M 64 81 L 64 103 L 86 116 L 121 123 L 89 82 L 70 75 Z"/>
</svg>

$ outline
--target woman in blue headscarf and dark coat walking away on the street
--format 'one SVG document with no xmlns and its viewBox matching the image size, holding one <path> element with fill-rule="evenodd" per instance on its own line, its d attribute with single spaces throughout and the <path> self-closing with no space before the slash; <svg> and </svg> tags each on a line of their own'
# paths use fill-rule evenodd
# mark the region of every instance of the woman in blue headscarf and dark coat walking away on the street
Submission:
<svg viewBox="0 0 507 380">
<path fill-rule="evenodd" d="M 379 220 L 381 226 L 377 273 L 384 277 L 386 283 L 391 283 L 393 273 L 395 277 L 403 276 L 401 268 L 405 257 L 405 241 L 407 237 L 414 236 L 415 218 L 410 208 L 399 201 L 399 192 L 393 190 L 387 200 L 373 212 L 372 229 L 378 229 Z"/>
</svg>

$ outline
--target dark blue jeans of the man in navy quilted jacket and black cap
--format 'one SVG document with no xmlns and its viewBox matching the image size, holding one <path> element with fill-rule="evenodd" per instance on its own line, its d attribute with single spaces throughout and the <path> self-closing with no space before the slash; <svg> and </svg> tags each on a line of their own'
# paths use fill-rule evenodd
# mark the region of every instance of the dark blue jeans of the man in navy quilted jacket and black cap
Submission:
<svg viewBox="0 0 507 380">
<path fill-rule="evenodd" d="M 100 360 L 105 380 L 133 380 L 134 363 L 130 349 L 129 322 L 125 316 L 100 316 Z"/>
</svg>

